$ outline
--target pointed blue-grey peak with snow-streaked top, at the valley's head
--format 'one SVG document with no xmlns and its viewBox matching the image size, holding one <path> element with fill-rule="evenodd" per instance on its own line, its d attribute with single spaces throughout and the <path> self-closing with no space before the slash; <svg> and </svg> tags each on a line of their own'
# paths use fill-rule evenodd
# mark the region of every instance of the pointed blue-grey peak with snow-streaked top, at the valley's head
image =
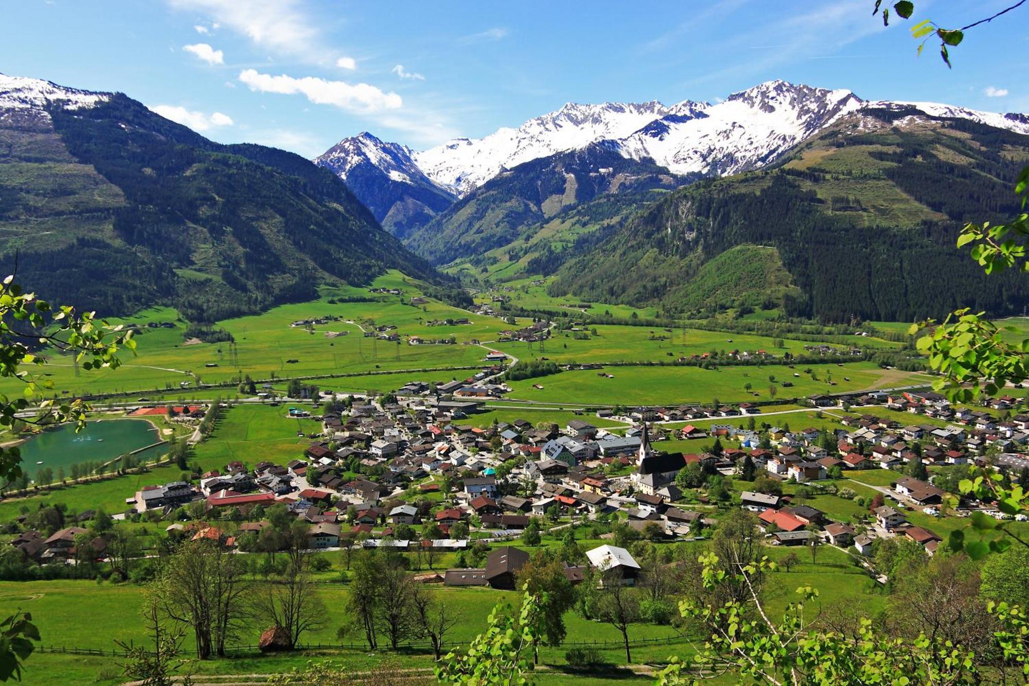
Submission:
<svg viewBox="0 0 1029 686">
<path fill-rule="evenodd" d="M 456 200 L 422 173 L 411 155 L 404 145 L 364 132 L 343 139 L 314 162 L 343 179 L 383 229 L 403 238 Z"/>
</svg>

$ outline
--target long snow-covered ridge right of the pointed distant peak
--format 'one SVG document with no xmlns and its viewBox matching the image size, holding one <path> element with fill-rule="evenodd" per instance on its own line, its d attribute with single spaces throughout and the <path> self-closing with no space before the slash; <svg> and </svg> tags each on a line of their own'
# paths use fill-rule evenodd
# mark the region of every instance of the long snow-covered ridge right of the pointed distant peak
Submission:
<svg viewBox="0 0 1029 686">
<path fill-rule="evenodd" d="M 1029 135 L 1026 114 L 938 103 L 864 101 L 848 90 L 773 80 L 715 104 L 690 100 L 671 106 L 655 100 L 568 103 L 483 138 L 455 138 L 420 152 L 403 149 L 427 178 L 459 196 L 505 169 L 601 141 L 628 159 L 652 160 L 676 174 L 720 176 L 757 169 L 844 116 L 883 108 L 915 108 L 928 116 L 967 118 Z M 364 150 L 363 157 L 390 157 L 385 150 L 382 153 L 384 158 Z"/>
</svg>

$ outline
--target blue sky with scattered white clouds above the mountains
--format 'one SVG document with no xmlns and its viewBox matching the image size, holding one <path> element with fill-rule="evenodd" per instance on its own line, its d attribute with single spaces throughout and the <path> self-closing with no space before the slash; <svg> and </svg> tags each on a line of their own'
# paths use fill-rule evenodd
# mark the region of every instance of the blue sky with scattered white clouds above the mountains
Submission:
<svg viewBox="0 0 1029 686">
<path fill-rule="evenodd" d="M 887 0 L 886 4 L 891 4 Z M 0 72 L 121 91 L 223 142 L 315 156 L 370 131 L 416 149 L 565 102 L 715 101 L 783 78 L 865 99 L 1029 111 L 1029 5 L 916 57 L 909 27 L 1009 2 L 2 0 Z"/>
</svg>

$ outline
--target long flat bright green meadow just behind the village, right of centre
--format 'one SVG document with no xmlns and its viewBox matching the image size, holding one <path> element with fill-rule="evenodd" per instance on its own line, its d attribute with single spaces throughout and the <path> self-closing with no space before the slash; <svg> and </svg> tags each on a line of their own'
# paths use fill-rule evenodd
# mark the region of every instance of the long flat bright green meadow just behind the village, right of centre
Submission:
<svg viewBox="0 0 1029 686">
<path fill-rule="evenodd" d="M 924 374 L 881 370 L 872 363 L 844 366 L 811 365 L 814 376 L 804 373 L 808 366 L 789 369 L 782 365 L 764 367 L 608 367 L 614 378 L 600 376 L 593 370 L 563 372 L 552 376 L 513 381 L 511 399 L 548 403 L 597 404 L 676 404 L 744 402 L 770 400 L 769 376 L 776 378 L 778 398 L 804 398 L 812 393 L 842 392 L 899 385 L 926 383 Z M 793 377 L 796 373 L 801 376 Z M 828 379 L 836 381 L 829 385 Z M 850 380 L 846 380 L 849 378 Z M 793 383 L 784 388 L 782 381 Z M 746 389 L 746 384 L 751 389 Z M 535 384 L 543 386 L 534 388 Z"/>
</svg>

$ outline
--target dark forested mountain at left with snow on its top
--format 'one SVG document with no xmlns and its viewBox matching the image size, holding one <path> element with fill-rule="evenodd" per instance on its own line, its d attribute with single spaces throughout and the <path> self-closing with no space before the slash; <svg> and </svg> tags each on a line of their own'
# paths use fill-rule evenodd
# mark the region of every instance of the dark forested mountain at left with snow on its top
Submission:
<svg viewBox="0 0 1029 686">
<path fill-rule="evenodd" d="M 41 297 L 211 321 L 389 268 L 442 278 L 299 156 L 214 143 L 120 94 L 71 108 L 63 94 L 79 92 L 5 79 L 0 253 Z M 48 95 L 17 90 L 39 84 Z"/>
</svg>

